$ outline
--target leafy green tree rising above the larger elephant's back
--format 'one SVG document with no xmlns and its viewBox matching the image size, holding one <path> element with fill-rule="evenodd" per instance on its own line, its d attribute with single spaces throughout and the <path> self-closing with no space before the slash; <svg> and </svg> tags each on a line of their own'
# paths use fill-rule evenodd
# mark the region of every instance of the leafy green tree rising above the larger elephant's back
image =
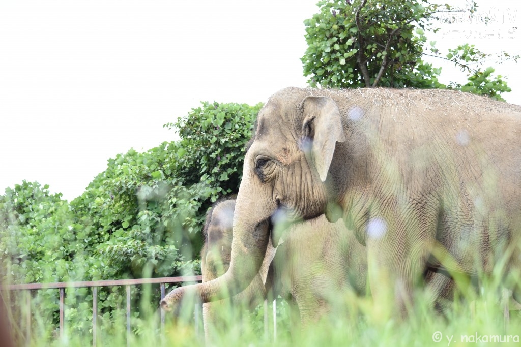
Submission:
<svg viewBox="0 0 521 347">
<path fill-rule="evenodd" d="M 320 12 L 304 21 L 308 48 L 301 59 L 311 86 L 447 87 L 438 81 L 441 68 L 423 60 L 430 55 L 425 33 L 439 30 L 436 21 L 446 21 L 440 17 L 441 12 L 464 9 L 430 4 L 428 0 L 322 0 L 317 5 Z M 467 7 L 472 16 L 476 3 Z M 430 42 L 430 52 L 438 57 L 441 53 L 434 45 Z M 462 70 L 470 70 L 468 62 L 482 63 L 490 55 L 461 45 L 450 50 L 447 57 Z M 449 87 L 502 100 L 499 94 L 510 92 L 510 88 L 490 69 L 473 69 L 467 84 L 452 82 Z"/>
</svg>

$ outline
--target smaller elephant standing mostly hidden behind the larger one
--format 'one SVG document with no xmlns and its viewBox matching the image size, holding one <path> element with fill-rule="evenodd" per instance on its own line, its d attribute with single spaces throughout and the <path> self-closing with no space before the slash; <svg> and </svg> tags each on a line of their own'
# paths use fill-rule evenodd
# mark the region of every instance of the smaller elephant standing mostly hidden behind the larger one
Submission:
<svg viewBox="0 0 521 347">
<path fill-rule="evenodd" d="M 203 282 L 224 274 L 230 265 L 232 219 L 235 200 L 216 203 L 206 216 L 205 242 L 201 252 Z M 293 333 L 321 317 L 340 310 L 344 315 L 346 294 L 352 299 L 365 295 L 367 285 L 366 248 L 345 228 L 342 221 L 330 223 L 324 215 L 297 222 L 287 228 L 276 227 L 271 235 L 279 238 L 274 249 L 268 243 L 263 266 L 246 289 L 235 295 L 230 306 L 253 308 L 265 299 L 280 295 L 290 307 Z M 441 309 L 452 300 L 454 282 L 442 274 L 426 275 L 432 300 Z M 219 311 L 226 303 L 219 300 L 203 304 L 205 335 L 209 326 L 226 329 Z"/>
</svg>

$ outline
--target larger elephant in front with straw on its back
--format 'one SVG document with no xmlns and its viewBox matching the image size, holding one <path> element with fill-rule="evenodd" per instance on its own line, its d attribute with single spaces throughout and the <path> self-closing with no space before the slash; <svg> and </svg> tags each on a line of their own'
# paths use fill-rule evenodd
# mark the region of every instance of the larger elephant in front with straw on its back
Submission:
<svg viewBox="0 0 521 347">
<path fill-rule="evenodd" d="M 428 266 L 520 269 L 521 107 L 440 89 L 286 88 L 259 111 L 233 220 L 230 267 L 189 291 L 242 291 L 261 267 L 270 217 L 342 218 L 367 246 L 371 294 L 405 313 Z M 254 251 L 252 251 L 254 250 Z"/>
</svg>

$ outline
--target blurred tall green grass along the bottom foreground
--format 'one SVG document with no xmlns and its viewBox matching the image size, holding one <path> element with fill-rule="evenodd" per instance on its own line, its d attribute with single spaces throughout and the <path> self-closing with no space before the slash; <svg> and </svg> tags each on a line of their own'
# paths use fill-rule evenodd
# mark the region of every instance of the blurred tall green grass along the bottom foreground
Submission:
<svg viewBox="0 0 521 347">
<path fill-rule="evenodd" d="M 448 345 L 519 345 L 521 315 L 510 312 L 510 324 L 505 326 L 501 292 L 498 281 L 479 278 L 478 286 L 460 286 L 455 300 L 437 312 L 429 304 L 428 293 L 418 289 L 414 304 L 406 317 L 387 316 L 385 308 L 376 307 L 368 297 L 353 293 L 339 295 L 331 303 L 331 313 L 302 330 L 291 331 L 288 305 L 277 300 L 277 333 L 272 327 L 272 303 L 267 306 L 268 331 L 264 327 L 264 305 L 246 311 L 232 304 L 224 305 L 220 322 L 209 329 L 206 345 L 212 346 L 448 346 Z M 205 337 L 201 325 L 194 324 L 193 306 L 178 318 L 166 315 L 165 328 L 160 325 L 157 302 L 152 302 L 151 287 L 144 286 L 140 314 L 132 317 L 129 336 L 133 346 L 203 346 Z M 147 294 L 148 291 L 148 294 Z M 27 308 L 23 295 L 14 298 L 3 292 L 10 318 L 11 332 L 18 345 L 26 345 L 24 322 Z M 6 294 L 8 295 L 6 297 Z M 16 299 L 16 300 L 15 300 Z M 62 337 L 49 324 L 50 317 L 40 315 L 38 302 L 33 300 L 31 318 L 31 346 L 89 346 L 92 345 L 92 326 L 85 322 L 82 331 L 67 331 Z M 80 307 L 77 308 L 81 309 Z M 75 319 L 69 310 L 67 320 Z M 196 329 L 197 328 L 197 329 Z M 295 329 L 293 329 L 295 330 Z M 439 342 L 438 342 L 439 340 Z M 508 341 L 508 342 L 500 342 Z M 126 346 L 127 331 L 124 308 L 98 321 L 97 345 Z"/>
</svg>

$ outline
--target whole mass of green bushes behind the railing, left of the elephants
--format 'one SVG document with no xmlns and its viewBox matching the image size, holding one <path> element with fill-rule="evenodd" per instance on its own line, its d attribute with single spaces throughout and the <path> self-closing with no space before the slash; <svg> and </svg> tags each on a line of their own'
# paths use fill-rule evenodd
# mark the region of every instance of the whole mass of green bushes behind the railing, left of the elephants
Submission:
<svg viewBox="0 0 521 347">
<path fill-rule="evenodd" d="M 36 182 L 7 189 L 0 196 L 2 283 L 200 274 L 206 210 L 219 196 L 238 190 L 245 144 L 262 106 L 202 105 L 165 125 L 179 132 L 179 141 L 109 159 L 107 169 L 70 203 Z M 139 335 L 145 311 L 157 310 L 159 288 L 131 291 L 133 332 Z M 84 332 L 91 324 L 92 293 L 86 288 L 65 293 L 68 333 Z M 39 338 L 51 340 L 59 333 L 58 291 L 32 296 L 32 312 L 38 313 L 33 324 L 47 322 Z M 125 326 L 125 298 L 124 288 L 98 290 L 105 335 Z M 25 302 L 23 295 L 11 300 Z"/>
</svg>

